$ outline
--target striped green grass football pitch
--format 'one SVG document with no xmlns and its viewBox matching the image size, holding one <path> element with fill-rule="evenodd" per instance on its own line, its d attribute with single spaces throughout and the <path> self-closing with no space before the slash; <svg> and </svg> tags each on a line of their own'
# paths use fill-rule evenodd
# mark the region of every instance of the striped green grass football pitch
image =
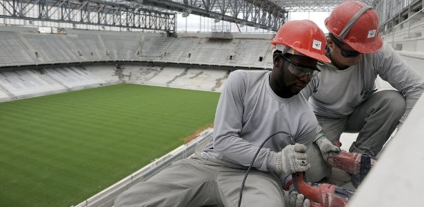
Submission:
<svg viewBox="0 0 424 207">
<path fill-rule="evenodd" d="M 219 95 L 119 84 L 0 103 L 0 206 L 81 203 L 212 124 Z"/>
</svg>

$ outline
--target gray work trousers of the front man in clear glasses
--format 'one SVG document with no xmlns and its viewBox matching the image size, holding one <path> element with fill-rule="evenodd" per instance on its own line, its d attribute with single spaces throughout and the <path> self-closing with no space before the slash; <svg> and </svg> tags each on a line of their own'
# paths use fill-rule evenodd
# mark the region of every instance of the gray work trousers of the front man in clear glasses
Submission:
<svg viewBox="0 0 424 207">
<path fill-rule="evenodd" d="M 237 206 L 246 171 L 245 166 L 193 155 L 132 186 L 115 199 L 114 207 Z M 279 177 L 252 168 L 241 206 L 284 206 Z"/>
</svg>

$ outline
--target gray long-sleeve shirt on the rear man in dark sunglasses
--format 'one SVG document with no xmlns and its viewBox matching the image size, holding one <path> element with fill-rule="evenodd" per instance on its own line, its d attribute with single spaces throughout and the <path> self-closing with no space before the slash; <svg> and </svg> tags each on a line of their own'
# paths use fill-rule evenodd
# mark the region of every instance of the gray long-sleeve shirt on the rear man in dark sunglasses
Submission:
<svg viewBox="0 0 424 207">
<path fill-rule="evenodd" d="M 345 70 L 319 64 L 321 72 L 301 91 L 319 117 L 341 118 L 350 115 L 372 92 L 377 75 L 406 99 L 405 121 L 424 90 L 423 77 L 386 43 L 378 52 L 365 54 L 362 60 Z"/>
</svg>

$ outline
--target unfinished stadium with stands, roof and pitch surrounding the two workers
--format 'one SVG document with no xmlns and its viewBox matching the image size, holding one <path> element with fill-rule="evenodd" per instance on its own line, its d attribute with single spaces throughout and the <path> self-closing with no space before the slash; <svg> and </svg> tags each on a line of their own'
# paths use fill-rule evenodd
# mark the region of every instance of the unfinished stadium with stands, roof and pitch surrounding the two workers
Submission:
<svg viewBox="0 0 424 207">
<path fill-rule="evenodd" d="M 1 0 L 0 206 L 113 206 L 201 150 L 230 72 L 272 70 L 279 26 L 341 2 Z M 363 2 L 383 40 L 424 75 L 424 1 Z M 198 30 L 176 29 L 193 16 Z M 423 112 L 421 98 L 350 206 L 418 197 Z"/>
</svg>

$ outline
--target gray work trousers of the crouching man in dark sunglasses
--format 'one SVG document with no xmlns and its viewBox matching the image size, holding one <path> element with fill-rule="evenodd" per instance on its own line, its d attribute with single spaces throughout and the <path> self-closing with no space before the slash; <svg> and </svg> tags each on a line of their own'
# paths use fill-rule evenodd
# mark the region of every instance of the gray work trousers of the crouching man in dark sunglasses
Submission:
<svg viewBox="0 0 424 207">
<path fill-rule="evenodd" d="M 405 112 L 405 97 L 395 90 L 375 92 L 356 106 L 352 114 L 341 119 L 316 117 L 323 128 L 325 137 L 332 141 L 340 139 L 343 132 L 358 133 L 350 152 L 359 152 L 376 157 L 378 152 L 396 129 L 399 119 Z M 307 150 L 311 168 L 306 171 L 308 181 L 320 181 L 331 175 L 332 169 L 325 162 L 316 144 Z"/>
</svg>

